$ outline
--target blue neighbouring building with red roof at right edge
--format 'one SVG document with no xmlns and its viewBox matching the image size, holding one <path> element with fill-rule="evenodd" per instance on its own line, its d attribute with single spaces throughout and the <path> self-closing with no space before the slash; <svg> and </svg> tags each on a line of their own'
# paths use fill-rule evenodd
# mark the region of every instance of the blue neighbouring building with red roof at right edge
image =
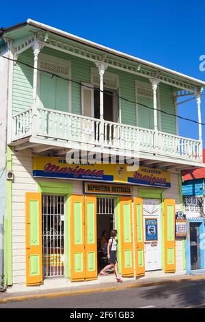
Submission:
<svg viewBox="0 0 205 322">
<path fill-rule="evenodd" d="M 203 150 L 204 161 L 205 149 Z M 187 216 L 187 273 L 205 271 L 205 169 L 184 170 L 182 178 L 183 208 Z"/>
</svg>

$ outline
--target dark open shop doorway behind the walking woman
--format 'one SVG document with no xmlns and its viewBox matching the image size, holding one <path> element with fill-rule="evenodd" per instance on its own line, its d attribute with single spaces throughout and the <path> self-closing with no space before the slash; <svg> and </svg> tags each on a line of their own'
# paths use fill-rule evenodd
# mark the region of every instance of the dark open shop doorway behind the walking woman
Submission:
<svg viewBox="0 0 205 322">
<path fill-rule="evenodd" d="M 115 228 L 115 198 L 97 198 L 98 273 L 108 264 L 107 242 Z"/>
</svg>

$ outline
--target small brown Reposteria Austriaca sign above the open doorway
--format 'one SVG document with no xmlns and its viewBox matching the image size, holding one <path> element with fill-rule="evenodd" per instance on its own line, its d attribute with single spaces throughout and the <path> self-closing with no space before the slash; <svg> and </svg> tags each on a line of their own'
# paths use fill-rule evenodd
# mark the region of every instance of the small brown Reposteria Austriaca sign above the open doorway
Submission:
<svg viewBox="0 0 205 322">
<path fill-rule="evenodd" d="M 106 195 L 132 195 L 132 187 L 120 184 L 95 184 L 85 182 L 84 186 L 85 193 L 94 193 L 95 195 L 106 194 Z"/>
</svg>

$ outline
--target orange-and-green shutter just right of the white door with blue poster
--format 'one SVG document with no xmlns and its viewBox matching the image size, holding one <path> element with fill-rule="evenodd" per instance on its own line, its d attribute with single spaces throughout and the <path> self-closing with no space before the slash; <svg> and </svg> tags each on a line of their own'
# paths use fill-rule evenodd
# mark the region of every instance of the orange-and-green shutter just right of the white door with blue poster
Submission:
<svg viewBox="0 0 205 322">
<path fill-rule="evenodd" d="M 176 271 L 175 200 L 164 200 L 165 273 Z"/>
</svg>

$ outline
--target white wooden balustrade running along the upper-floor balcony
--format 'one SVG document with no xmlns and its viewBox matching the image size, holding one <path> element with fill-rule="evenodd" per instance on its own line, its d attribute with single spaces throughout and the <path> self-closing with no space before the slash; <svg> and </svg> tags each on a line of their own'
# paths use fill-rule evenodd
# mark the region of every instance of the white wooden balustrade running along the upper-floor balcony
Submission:
<svg viewBox="0 0 205 322">
<path fill-rule="evenodd" d="M 123 156 L 126 151 L 130 157 L 153 156 L 153 162 L 158 159 L 202 162 L 200 140 L 46 108 L 38 108 L 35 123 L 31 108 L 15 114 L 12 142 L 16 149 L 18 145 L 23 147 L 22 142 L 30 142 L 30 147 L 36 143 L 44 145 L 42 151 L 52 146 L 65 149 L 65 153 L 66 149 L 84 149 Z"/>
</svg>

